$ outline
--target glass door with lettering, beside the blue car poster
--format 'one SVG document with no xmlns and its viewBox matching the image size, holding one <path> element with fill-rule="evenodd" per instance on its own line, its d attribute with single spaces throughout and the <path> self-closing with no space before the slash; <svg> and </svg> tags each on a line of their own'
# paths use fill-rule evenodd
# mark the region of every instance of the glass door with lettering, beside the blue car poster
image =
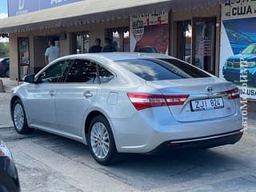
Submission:
<svg viewBox="0 0 256 192">
<path fill-rule="evenodd" d="M 215 74 L 216 18 L 193 18 L 192 64 Z"/>
</svg>

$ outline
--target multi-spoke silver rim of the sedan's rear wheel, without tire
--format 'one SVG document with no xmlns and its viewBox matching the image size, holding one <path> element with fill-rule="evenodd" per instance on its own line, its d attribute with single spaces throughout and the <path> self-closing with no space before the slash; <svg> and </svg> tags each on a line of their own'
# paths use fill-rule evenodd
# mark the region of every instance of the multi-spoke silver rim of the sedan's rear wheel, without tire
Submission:
<svg viewBox="0 0 256 192">
<path fill-rule="evenodd" d="M 90 145 L 97 158 L 106 158 L 110 151 L 110 136 L 102 122 L 94 123 L 90 131 Z"/>
</svg>

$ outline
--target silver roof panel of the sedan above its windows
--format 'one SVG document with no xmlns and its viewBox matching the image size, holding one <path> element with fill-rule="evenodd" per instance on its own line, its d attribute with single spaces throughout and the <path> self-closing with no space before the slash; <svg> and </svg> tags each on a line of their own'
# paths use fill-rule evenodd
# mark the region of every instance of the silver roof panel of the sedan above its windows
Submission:
<svg viewBox="0 0 256 192">
<path fill-rule="evenodd" d="M 72 54 L 64 58 L 106 58 L 112 61 L 121 61 L 128 59 L 138 58 L 173 58 L 166 54 L 154 54 L 154 53 L 126 53 L 126 52 L 111 52 L 111 53 L 95 53 L 95 54 Z"/>
</svg>

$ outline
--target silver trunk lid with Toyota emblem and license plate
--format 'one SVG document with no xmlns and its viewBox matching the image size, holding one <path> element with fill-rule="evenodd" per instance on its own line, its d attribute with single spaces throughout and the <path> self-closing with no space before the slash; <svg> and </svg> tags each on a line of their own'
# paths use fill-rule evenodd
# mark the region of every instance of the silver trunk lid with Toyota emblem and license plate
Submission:
<svg viewBox="0 0 256 192">
<path fill-rule="evenodd" d="M 227 92 L 235 86 L 218 78 L 182 78 L 146 84 L 158 89 L 166 98 L 189 95 L 182 105 L 169 105 L 170 113 L 178 122 L 223 118 L 237 110 L 238 99 L 230 99 Z"/>
</svg>

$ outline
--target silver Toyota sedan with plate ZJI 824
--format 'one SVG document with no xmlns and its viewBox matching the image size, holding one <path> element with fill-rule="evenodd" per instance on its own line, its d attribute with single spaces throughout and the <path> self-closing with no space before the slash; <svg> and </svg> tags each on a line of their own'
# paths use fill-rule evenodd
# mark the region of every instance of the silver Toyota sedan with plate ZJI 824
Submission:
<svg viewBox="0 0 256 192">
<path fill-rule="evenodd" d="M 102 165 L 118 153 L 242 138 L 238 88 L 170 56 L 70 55 L 24 81 L 10 102 L 18 133 L 38 129 L 83 142 Z"/>
</svg>

